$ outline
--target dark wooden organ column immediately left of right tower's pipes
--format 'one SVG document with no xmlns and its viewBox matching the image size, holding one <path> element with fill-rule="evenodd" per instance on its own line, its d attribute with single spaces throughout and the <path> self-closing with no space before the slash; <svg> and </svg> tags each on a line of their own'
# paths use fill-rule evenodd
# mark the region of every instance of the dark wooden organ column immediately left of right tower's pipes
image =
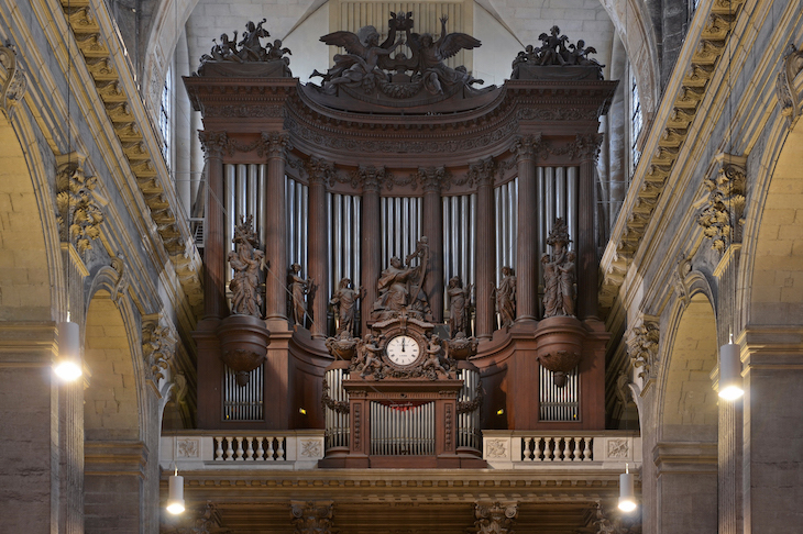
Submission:
<svg viewBox="0 0 803 534">
<path fill-rule="evenodd" d="M 516 321 L 535 321 L 538 314 L 538 187 L 536 149 L 540 136 L 516 138 L 510 152 L 518 167 L 518 236 L 516 240 Z"/>
</svg>

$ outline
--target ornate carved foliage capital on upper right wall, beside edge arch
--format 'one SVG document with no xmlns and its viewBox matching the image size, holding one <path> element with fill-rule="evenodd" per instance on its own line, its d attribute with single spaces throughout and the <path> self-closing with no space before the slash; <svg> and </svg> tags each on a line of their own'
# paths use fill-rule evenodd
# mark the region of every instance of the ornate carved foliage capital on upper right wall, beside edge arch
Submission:
<svg viewBox="0 0 803 534">
<path fill-rule="evenodd" d="M 715 158 L 715 177 L 705 178 L 708 190 L 705 207 L 697 218 L 703 233 L 712 240 L 711 247 L 724 253 L 732 243 L 741 243 L 745 225 L 747 191 L 747 158 L 719 154 Z M 715 168 L 716 168 L 715 167 Z"/>
</svg>

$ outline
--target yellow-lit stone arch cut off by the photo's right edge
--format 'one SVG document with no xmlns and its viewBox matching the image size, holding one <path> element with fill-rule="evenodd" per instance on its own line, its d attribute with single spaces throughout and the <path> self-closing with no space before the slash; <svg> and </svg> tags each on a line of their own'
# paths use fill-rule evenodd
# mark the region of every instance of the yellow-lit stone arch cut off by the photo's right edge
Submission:
<svg viewBox="0 0 803 534">
<path fill-rule="evenodd" d="M 785 136 L 778 152 L 768 151 L 762 165 L 767 176 L 757 177 L 756 200 L 762 205 L 756 227 L 746 246 L 750 265 L 745 265 L 745 299 L 749 302 L 747 322 L 762 324 L 803 324 L 803 127 Z M 761 185 L 766 182 L 766 192 Z M 761 200 L 763 192 L 765 199 Z M 749 224 L 749 223 L 748 223 Z"/>
</svg>

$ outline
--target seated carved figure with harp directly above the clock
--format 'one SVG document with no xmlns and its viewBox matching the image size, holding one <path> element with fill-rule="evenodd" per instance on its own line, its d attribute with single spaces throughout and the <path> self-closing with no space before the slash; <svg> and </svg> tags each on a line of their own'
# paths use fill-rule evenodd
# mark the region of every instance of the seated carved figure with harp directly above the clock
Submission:
<svg viewBox="0 0 803 534">
<path fill-rule="evenodd" d="M 418 265 L 411 265 L 418 259 Z M 404 264 L 398 257 L 391 258 L 391 266 L 382 271 L 376 289 L 380 298 L 374 302 L 371 319 L 385 321 L 398 316 L 402 311 L 410 316 L 431 321 L 424 282 L 429 264 L 429 244 L 427 236 L 421 237 L 416 249 L 408 254 Z"/>
</svg>

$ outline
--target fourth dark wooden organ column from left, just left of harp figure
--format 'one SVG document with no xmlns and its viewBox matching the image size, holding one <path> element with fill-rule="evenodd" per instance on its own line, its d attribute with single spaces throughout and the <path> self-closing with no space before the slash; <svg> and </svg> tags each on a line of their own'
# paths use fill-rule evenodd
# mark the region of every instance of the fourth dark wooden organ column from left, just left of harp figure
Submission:
<svg viewBox="0 0 803 534">
<path fill-rule="evenodd" d="M 371 307 L 376 301 L 376 280 L 380 279 L 382 267 L 380 266 L 382 256 L 382 219 L 380 214 L 380 186 L 382 178 L 385 176 L 384 168 L 375 168 L 373 166 L 360 167 L 360 180 L 363 188 L 363 213 L 361 229 L 361 251 L 362 251 L 362 281 L 361 286 L 365 288 L 365 297 L 361 299 L 361 332 L 367 332 L 366 322 L 371 315 Z"/>
</svg>

